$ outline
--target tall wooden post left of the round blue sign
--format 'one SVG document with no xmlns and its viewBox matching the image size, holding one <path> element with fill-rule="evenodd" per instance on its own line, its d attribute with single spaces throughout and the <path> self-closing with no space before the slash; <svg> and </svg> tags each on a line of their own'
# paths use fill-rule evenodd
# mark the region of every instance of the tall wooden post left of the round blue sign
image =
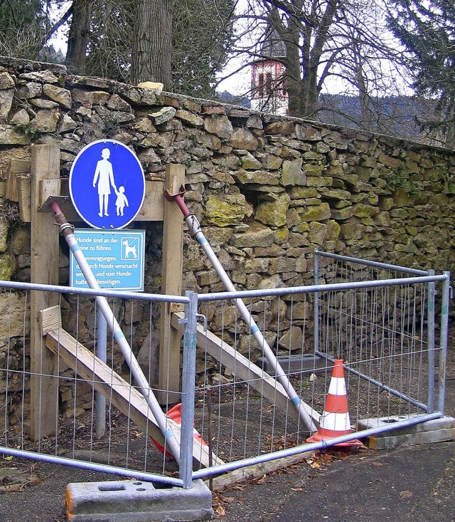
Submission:
<svg viewBox="0 0 455 522">
<path fill-rule="evenodd" d="M 41 181 L 60 178 L 60 147 L 33 145 L 31 157 L 31 282 L 58 284 L 58 226 L 52 213 L 38 209 Z M 50 376 L 55 375 L 56 357 L 45 348 L 39 312 L 57 303 L 55 293 L 31 293 L 31 437 L 35 441 L 55 434 L 58 379 Z"/>
</svg>

